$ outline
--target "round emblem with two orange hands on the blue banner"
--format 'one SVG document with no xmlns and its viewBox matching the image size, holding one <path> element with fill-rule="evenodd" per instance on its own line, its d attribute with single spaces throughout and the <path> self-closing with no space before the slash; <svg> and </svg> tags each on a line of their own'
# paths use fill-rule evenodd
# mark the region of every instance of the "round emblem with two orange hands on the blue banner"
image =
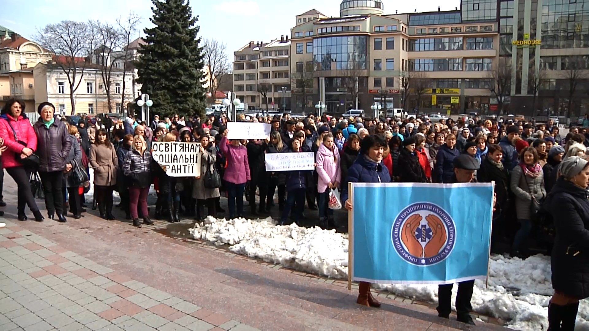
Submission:
<svg viewBox="0 0 589 331">
<path fill-rule="evenodd" d="M 413 203 L 395 217 L 391 240 L 403 260 L 415 266 L 444 261 L 456 242 L 454 220 L 442 207 Z"/>
</svg>

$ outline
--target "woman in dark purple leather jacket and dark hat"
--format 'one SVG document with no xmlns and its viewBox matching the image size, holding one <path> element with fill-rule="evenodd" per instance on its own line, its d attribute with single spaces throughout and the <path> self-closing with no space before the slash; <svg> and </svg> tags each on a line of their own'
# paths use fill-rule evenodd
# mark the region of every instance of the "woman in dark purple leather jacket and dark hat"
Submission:
<svg viewBox="0 0 589 331">
<path fill-rule="evenodd" d="M 72 168 L 72 165 L 66 162 L 72 149 L 72 141 L 65 122 L 55 121 L 53 104 L 41 102 L 37 112 L 40 116 L 33 129 L 37 135 L 37 155 L 41 161 L 39 177 L 45 192 L 45 208 L 49 219 L 54 219 L 57 215 L 57 220 L 64 223 L 66 213 L 61 188 L 64 173 Z"/>
</svg>

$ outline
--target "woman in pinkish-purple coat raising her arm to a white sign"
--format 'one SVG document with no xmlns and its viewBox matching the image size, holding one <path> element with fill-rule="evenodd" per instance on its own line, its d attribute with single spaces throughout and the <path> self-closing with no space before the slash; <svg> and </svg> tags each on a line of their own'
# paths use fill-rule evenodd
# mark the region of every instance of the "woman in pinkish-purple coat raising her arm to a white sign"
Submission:
<svg viewBox="0 0 589 331">
<path fill-rule="evenodd" d="M 229 130 L 227 131 L 229 134 Z M 223 180 L 227 184 L 227 193 L 229 195 L 229 219 L 236 216 L 243 216 L 243 191 L 246 188 L 246 182 L 250 180 L 250 165 L 247 162 L 247 149 L 241 145 L 238 139 L 227 141 L 227 136 L 223 136 L 219 144 L 219 150 L 227 160 L 227 168 L 223 175 Z M 237 204 L 237 215 L 235 205 Z"/>
</svg>

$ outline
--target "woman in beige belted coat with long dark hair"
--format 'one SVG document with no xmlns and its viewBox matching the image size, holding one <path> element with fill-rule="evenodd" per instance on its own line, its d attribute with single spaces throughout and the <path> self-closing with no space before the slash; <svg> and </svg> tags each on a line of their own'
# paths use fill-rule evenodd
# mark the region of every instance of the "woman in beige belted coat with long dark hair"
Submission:
<svg viewBox="0 0 589 331">
<path fill-rule="evenodd" d="M 90 146 L 90 166 L 94 169 L 94 195 L 98 202 L 100 217 L 114 220 L 112 191 L 117 184 L 118 159 L 105 130 L 96 132 L 95 143 Z"/>
</svg>

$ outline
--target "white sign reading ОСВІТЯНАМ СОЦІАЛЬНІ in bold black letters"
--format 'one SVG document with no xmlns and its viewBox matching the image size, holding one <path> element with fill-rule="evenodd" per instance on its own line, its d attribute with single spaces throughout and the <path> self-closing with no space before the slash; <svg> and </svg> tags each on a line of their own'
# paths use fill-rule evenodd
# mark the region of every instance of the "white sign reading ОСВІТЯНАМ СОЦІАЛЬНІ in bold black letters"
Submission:
<svg viewBox="0 0 589 331">
<path fill-rule="evenodd" d="M 170 177 L 200 177 L 200 143 L 154 141 L 151 153 L 155 162 Z"/>
</svg>

